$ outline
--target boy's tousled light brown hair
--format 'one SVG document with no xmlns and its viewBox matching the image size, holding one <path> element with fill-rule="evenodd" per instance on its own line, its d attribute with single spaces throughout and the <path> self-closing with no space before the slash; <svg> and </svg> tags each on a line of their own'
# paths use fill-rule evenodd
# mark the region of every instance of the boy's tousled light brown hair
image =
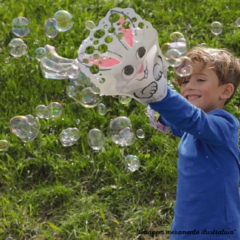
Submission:
<svg viewBox="0 0 240 240">
<path fill-rule="evenodd" d="M 188 53 L 187 56 L 191 58 L 192 63 L 201 63 L 202 68 L 209 67 L 212 69 L 219 81 L 219 86 L 232 83 L 234 86 L 234 92 L 230 98 L 226 100 L 224 105 L 234 96 L 237 87 L 240 83 L 240 62 L 226 49 L 215 49 L 206 47 L 194 47 Z M 182 84 L 183 80 L 189 77 L 177 76 L 177 82 Z"/>
</svg>

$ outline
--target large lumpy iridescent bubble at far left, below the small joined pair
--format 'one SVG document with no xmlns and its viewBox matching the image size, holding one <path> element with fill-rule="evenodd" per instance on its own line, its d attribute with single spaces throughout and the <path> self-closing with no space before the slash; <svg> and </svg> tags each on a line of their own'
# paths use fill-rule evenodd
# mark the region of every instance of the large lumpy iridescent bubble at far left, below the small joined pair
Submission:
<svg viewBox="0 0 240 240">
<path fill-rule="evenodd" d="M 40 129 L 37 118 L 32 115 L 16 116 L 10 120 L 11 132 L 19 137 L 23 142 L 34 140 Z"/>
</svg>

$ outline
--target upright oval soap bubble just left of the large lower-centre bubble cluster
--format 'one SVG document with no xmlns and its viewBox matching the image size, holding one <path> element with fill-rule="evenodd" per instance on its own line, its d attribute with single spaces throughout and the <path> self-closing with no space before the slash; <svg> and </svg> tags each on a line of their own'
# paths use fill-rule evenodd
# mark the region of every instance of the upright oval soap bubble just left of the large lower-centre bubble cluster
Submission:
<svg viewBox="0 0 240 240">
<path fill-rule="evenodd" d="M 103 132 L 97 128 L 91 129 L 88 133 L 88 144 L 93 150 L 100 150 L 105 142 Z"/>
</svg>

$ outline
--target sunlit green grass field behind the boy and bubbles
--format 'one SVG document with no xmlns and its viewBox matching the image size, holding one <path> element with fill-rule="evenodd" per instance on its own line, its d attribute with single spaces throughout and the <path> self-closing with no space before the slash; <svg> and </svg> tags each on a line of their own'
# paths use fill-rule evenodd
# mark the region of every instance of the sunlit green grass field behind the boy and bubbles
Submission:
<svg viewBox="0 0 240 240">
<path fill-rule="evenodd" d="M 163 135 L 149 126 L 145 107 L 132 100 L 102 99 L 108 113 L 84 108 L 66 95 L 68 81 L 45 79 L 34 51 L 53 45 L 59 55 L 76 58 L 77 50 L 89 34 L 84 23 L 96 24 L 113 7 L 131 7 L 150 21 L 159 33 L 159 44 L 180 31 L 188 47 L 207 44 L 227 48 L 240 57 L 239 0 L 134 0 L 134 1 L 61 1 L 0 0 L 0 140 L 10 147 L 0 152 L 0 239 L 79 240 L 79 239 L 168 239 L 169 235 L 151 237 L 138 230 L 169 230 L 177 182 L 177 146 L 179 139 Z M 71 30 L 49 39 L 43 25 L 58 10 L 73 16 Z M 7 45 L 15 36 L 12 20 L 24 16 L 31 33 L 23 40 L 28 54 L 9 55 Z M 219 21 L 223 33 L 214 36 L 210 24 Z M 169 80 L 174 78 L 169 69 Z M 178 88 L 176 87 L 176 90 Z M 23 143 L 10 131 L 9 121 L 18 115 L 35 115 L 37 105 L 60 102 L 61 117 L 40 119 L 38 137 Z M 237 118 L 240 93 L 226 110 Z M 177 103 L 176 103 L 177 104 Z M 107 136 L 110 119 L 127 116 L 134 130 L 141 128 L 144 139 L 121 148 L 107 139 L 104 148 L 93 151 L 87 141 L 88 131 L 101 129 Z M 80 119 L 80 124 L 76 124 Z M 60 132 L 77 127 L 81 137 L 71 147 L 63 147 Z M 124 156 L 137 155 L 141 167 L 130 172 Z M 186 196 L 187 197 L 187 196 Z"/>
</svg>

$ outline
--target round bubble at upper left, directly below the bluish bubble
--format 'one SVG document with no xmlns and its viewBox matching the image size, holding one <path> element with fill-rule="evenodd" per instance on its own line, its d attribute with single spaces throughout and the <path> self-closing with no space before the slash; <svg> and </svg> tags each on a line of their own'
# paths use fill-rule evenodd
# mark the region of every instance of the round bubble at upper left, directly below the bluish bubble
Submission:
<svg viewBox="0 0 240 240">
<path fill-rule="evenodd" d="M 20 38 L 13 38 L 8 44 L 8 51 L 13 57 L 21 57 L 28 51 L 27 45 Z"/>
</svg>

